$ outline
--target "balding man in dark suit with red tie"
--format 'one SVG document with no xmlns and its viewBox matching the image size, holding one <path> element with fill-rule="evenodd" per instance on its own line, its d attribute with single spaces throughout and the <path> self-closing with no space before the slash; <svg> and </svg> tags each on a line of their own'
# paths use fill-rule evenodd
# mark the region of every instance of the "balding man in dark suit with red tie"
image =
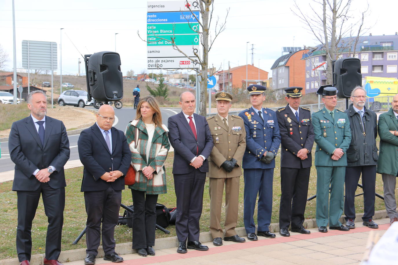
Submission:
<svg viewBox="0 0 398 265">
<path fill-rule="evenodd" d="M 179 104 L 182 111 L 169 118 L 168 129 L 170 143 L 174 147 L 177 252 L 187 253 L 187 248 L 209 249 L 199 242 L 199 219 L 206 172 L 209 171 L 207 158 L 213 149 L 213 137 L 205 117 L 193 113 L 196 105 L 193 93 L 182 93 Z M 185 244 L 187 239 L 188 243 Z"/>
</svg>

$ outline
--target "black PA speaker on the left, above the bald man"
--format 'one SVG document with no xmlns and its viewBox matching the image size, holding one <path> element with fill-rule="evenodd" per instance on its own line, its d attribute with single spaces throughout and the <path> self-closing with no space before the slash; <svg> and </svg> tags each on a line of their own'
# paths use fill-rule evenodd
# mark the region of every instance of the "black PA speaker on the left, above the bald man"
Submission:
<svg viewBox="0 0 398 265">
<path fill-rule="evenodd" d="M 117 52 L 96 52 L 84 55 L 88 100 L 118 101 L 123 98 L 120 55 Z"/>
</svg>

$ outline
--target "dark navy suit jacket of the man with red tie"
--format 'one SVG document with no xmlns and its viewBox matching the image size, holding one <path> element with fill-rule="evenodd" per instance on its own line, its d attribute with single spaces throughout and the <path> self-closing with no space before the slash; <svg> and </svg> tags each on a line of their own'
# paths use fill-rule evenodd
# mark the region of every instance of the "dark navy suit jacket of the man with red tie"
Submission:
<svg viewBox="0 0 398 265">
<path fill-rule="evenodd" d="M 206 158 L 199 170 L 201 172 L 209 171 L 207 158 L 213 149 L 213 137 L 205 117 L 194 113 L 193 118 L 196 124 L 197 140 L 182 111 L 168 119 L 169 140 L 174 148 L 173 174 L 192 172 L 195 168 L 189 163 L 198 155 L 203 155 Z M 197 147 L 199 153 L 196 153 Z"/>
</svg>

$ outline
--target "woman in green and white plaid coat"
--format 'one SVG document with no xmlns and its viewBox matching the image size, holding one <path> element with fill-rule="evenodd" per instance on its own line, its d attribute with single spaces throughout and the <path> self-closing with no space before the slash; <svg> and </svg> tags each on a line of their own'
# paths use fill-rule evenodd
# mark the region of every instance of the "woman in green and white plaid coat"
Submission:
<svg viewBox="0 0 398 265">
<path fill-rule="evenodd" d="M 137 116 L 126 128 L 131 151 L 135 184 L 129 186 L 133 195 L 133 248 L 140 256 L 155 255 L 156 202 L 158 194 L 166 193 L 166 161 L 170 144 L 167 128 L 156 99 L 144 97 L 137 106 Z M 137 145 L 135 144 L 137 136 Z M 137 146 L 137 148 L 135 147 Z"/>
</svg>

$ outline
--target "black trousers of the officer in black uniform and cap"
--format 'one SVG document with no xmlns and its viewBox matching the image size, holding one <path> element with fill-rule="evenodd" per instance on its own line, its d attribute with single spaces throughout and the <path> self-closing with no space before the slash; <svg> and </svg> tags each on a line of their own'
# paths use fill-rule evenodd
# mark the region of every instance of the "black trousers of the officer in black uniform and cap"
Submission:
<svg viewBox="0 0 398 265">
<path fill-rule="evenodd" d="M 281 203 L 279 206 L 279 228 L 302 226 L 307 203 L 310 167 L 281 167 Z"/>
</svg>

